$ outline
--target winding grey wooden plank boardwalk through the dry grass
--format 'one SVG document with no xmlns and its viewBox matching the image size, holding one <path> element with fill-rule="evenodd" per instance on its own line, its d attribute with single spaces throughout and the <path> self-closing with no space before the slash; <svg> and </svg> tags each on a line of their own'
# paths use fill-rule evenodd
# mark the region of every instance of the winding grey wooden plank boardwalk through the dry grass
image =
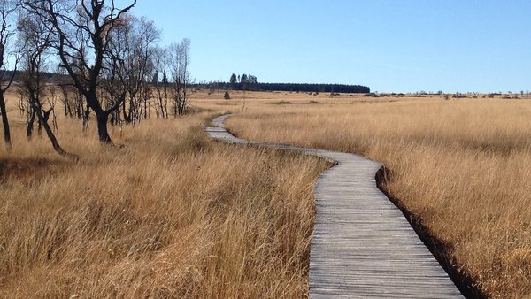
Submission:
<svg viewBox="0 0 531 299">
<path fill-rule="evenodd" d="M 227 132 L 223 121 L 207 127 L 212 139 L 299 150 L 337 162 L 321 173 L 313 191 L 317 215 L 310 254 L 310 297 L 462 298 L 402 211 L 376 187 L 381 168 L 365 157 L 269 142 L 249 142 Z"/>
</svg>

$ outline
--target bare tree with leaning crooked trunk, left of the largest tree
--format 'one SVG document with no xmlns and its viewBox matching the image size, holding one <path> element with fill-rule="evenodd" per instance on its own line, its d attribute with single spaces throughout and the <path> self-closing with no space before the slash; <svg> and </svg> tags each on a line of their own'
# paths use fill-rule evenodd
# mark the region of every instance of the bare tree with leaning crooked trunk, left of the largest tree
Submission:
<svg viewBox="0 0 531 299">
<path fill-rule="evenodd" d="M 54 105 L 50 104 L 50 109 L 42 109 L 41 98 L 43 96 L 42 68 L 45 67 L 45 61 L 50 55 L 50 36 L 51 32 L 43 26 L 35 15 L 22 14 L 19 18 L 19 48 L 22 58 L 24 71 L 24 88 L 27 90 L 30 107 L 30 121 L 27 126 L 27 135 L 31 137 L 33 130 L 33 121 L 35 115 L 39 120 L 39 128 L 42 126 L 50 139 L 53 149 L 63 157 L 69 157 L 74 160 L 79 159 L 76 155 L 70 154 L 63 149 L 53 133 L 48 121 Z M 55 116 L 54 116 L 55 118 Z M 53 121 L 53 119 L 52 119 Z"/>
</svg>

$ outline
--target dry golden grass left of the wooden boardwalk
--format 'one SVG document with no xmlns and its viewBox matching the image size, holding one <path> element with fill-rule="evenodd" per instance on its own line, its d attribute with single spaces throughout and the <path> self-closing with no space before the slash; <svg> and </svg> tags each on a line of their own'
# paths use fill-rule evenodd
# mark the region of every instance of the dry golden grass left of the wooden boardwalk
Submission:
<svg viewBox="0 0 531 299">
<path fill-rule="evenodd" d="M 10 112 L 0 149 L 0 297 L 303 297 L 312 157 L 211 142 L 207 114 L 112 130 L 60 119 L 59 158 Z"/>
</svg>

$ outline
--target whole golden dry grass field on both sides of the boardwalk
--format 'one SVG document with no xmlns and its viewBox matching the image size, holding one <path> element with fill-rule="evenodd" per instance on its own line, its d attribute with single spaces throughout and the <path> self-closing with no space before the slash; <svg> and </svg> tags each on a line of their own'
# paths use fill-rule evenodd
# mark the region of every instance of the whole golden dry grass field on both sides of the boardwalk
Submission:
<svg viewBox="0 0 531 299">
<path fill-rule="evenodd" d="M 195 114 L 113 128 L 59 117 L 60 158 L 11 108 L 0 147 L 0 297 L 304 297 L 324 161 L 211 142 L 240 137 L 354 152 L 491 297 L 531 295 L 531 103 L 525 99 L 192 94 Z M 13 100 L 11 101 L 12 104 Z M 60 114 L 60 107 L 58 108 Z M 203 112 L 201 112 L 203 111 Z"/>
</svg>

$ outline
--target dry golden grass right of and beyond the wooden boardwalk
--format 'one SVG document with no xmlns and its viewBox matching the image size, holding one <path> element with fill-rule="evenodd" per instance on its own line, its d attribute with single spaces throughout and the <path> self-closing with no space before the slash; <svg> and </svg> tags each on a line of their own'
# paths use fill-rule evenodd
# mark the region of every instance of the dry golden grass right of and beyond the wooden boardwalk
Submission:
<svg viewBox="0 0 531 299">
<path fill-rule="evenodd" d="M 491 297 L 531 295 L 531 102 L 284 94 L 227 120 L 252 140 L 360 153 Z M 318 105 L 308 105 L 318 100 Z M 251 103 L 252 102 L 252 103 Z"/>
</svg>

